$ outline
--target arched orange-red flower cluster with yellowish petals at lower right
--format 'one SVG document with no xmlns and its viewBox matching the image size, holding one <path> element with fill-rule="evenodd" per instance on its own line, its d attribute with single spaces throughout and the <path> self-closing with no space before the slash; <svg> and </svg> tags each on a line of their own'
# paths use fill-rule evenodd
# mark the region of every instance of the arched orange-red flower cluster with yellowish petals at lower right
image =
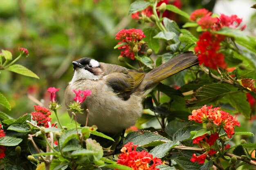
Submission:
<svg viewBox="0 0 256 170">
<path fill-rule="evenodd" d="M 229 115 L 225 111 L 219 110 L 220 108 L 212 108 L 211 106 L 202 106 L 198 110 L 193 110 L 192 115 L 189 116 L 189 120 L 196 121 L 198 123 L 211 122 L 220 128 L 223 128 L 229 138 L 234 135 L 235 126 L 240 126 L 236 116 Z"/>
</svg>

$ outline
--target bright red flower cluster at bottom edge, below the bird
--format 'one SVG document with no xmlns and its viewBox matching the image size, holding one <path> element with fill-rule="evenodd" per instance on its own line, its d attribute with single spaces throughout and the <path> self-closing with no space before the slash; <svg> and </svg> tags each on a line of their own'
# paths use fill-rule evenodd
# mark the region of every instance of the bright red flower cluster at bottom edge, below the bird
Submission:
<svg viewBox="0 0 256 170">
<path fill-rule="evenodd" d="M 147 151 L 136 151 L 136 145 L 133 145 L 132 142 L 124 145 L 121 152 L 118 156 L 117 163 L 129 166 L 133 170 L 159 170 L 156 166 L 162 164 L 161 159 L 157 157 L 153 158 L 153 155 Z"/>
</svg>

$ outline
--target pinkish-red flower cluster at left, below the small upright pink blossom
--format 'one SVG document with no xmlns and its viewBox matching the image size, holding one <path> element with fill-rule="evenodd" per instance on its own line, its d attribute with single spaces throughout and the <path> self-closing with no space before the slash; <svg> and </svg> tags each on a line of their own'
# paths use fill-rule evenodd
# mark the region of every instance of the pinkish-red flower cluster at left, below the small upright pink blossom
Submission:
<svg viewBox="0 0 256 170">
<path fill-rule="evenodd" d="M 51 121 L 52 118 L 49 117 L 51 112 L 42 106 L 34 106 L 36 112 L 31 112 L 32 120 L 37 122 L 38 126 L 49 127 L 48 121 Z"/>
</svg>

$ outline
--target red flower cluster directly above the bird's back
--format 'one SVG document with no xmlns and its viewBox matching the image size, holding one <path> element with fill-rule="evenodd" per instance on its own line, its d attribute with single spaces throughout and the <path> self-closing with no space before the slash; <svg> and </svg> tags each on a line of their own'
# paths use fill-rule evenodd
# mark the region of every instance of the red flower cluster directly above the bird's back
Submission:
<svg viewBox="0 0 256 170">
<path fill-rule="evenodd" d="M 122 29 L 116 35 L 116 40 L 121 40 L 118 44 L 123 44 L 118 47 L 121 49 L 122 57 L 129 57 L 130 59 L 135 59 L 135 54 L 133 52 L 134 47 L 137 46 L 137 51 L 141 50 L 142 43 L 140 42 L 145 35 L 141 29 Z"/>
</svg>

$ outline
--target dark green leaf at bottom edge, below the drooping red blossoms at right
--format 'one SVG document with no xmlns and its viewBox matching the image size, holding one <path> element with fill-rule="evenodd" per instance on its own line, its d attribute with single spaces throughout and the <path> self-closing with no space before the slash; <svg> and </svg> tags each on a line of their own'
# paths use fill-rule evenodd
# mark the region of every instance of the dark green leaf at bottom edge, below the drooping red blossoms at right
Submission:
<svg viewBox="0 0 256 170">
<path fill-rule="evenodd" d="M 174 161 L 180 166 L 179 170 L 199 170 L 201 165 L 192 162 L 187 157 L 176 157 Z"/>
</svg>

